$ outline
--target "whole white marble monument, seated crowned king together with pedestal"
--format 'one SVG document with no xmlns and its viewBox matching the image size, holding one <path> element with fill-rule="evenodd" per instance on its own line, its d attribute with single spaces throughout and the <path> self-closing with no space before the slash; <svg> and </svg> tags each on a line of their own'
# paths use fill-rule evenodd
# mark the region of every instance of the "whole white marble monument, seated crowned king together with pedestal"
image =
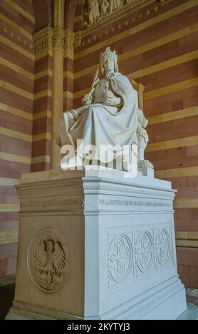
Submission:
<svg viewBox="0 0 198 334">
<path fill-rule="evenodd" d="M 75 156 L 78 139 L 96 148 L 138 146 L 139 171 L 127 178 L 124 168 L 92 165 L 22 175 L 16 299 L 6 319 L 177 319 L 187 303 L 177 273 L 175 190 L 144 158 L 147 119 L 115 51 L 101 53 L 83 106 L 64 112 L 60 125 L 62 153 L 70 146 Z M 63 156 L 63 169 L 70 160 Z"/>
</svg>

